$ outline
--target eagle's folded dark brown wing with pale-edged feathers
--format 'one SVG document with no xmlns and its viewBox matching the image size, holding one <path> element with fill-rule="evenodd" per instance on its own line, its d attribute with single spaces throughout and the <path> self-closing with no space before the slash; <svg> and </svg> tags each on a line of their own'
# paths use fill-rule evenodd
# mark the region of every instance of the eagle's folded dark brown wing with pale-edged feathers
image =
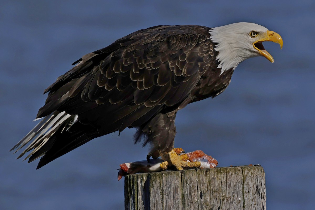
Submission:
<svg viewBox="0 0 315 210">
<path fill-rule="evenodd" d="M 77 114 L 105 135 L 177 108 L 213 61 L 208 30 L 155 26 L 83 56 L 45 90 L 49 95 L 37 117 L 55 110 Z"/>
</svg>

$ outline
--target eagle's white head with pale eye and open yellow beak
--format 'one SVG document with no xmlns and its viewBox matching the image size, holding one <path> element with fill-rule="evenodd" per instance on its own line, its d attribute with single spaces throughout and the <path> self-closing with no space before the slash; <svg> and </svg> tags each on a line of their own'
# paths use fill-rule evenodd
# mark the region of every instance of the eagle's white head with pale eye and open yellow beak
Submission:
<svg viewBox="0 0 315 210">
<path fill-rule="evenodd" d="M 273 63 L 273 58 L 262 45 L 263 41 L 273 41 L 280 44 L 283 41 L 279 34 L 255 23 L 233 23 L 211 28 L 210 39 L 215 43 L 215 51 L 219 52 L 216 60 L 221 73 L 235 69 L 247 58 L 264 56 Z"/>
</svg>

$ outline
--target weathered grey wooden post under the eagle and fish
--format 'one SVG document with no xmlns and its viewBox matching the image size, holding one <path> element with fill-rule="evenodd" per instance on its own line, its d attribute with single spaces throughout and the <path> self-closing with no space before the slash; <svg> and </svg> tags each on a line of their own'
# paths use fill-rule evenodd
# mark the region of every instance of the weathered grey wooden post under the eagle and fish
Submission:
<svg viewBox="0 0 315 210">
<path fill-rule="evenodd" d="M 127 175 L 125 209 L 264 210 L 265 172 L 237 166 Z"/>
</svg>

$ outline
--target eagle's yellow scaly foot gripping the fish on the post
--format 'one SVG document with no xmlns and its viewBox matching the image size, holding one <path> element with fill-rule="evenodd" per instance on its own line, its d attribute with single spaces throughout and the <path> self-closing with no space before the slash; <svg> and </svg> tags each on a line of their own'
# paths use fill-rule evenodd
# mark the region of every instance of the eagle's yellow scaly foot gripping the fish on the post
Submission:
<svg viewBox="0 0 315 210">
<path fill-rule="evenodd" d="M 160 164 L 162 170 L 167 170 L 170 167 L 174 166 L 177 170 L 183 170 L 183 168 L 199 168 L 200 162 L 187 162 L 187 154 L 178 154 L 178 148 L 172 149 L 170 152 L 167 152 L 168 160 Z M 181 148 L 180 148 L 181 149 Z"/>
</svg>

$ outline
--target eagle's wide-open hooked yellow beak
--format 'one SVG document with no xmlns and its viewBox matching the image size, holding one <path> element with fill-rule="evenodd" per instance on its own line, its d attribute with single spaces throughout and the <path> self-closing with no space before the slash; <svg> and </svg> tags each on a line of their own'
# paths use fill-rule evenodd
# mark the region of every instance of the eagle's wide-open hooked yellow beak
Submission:
<svg viewBox="0 0 315 210">
<path fill-rule="evenodd" d="M 261 54 L 262 56 L 267 58 L 271 63 L 273 63 L 274 60 L 272 56 L 269 54 L 269 52 L 265 50 L 264 46 L 262 45 L 263 41 L 273 41 L 275 43 L 278 43 L 280 45 L 280 49 L 282 49 L 282 45 L 283 45 L 282 38 L 276 32 L 267 30 L 267 33 L 265 34 L 264 37 L 262 37 L 260 40 L 257 40 L 253 43 L 254 48 L 258 50 L 259 54 Z"/>
</svg>

